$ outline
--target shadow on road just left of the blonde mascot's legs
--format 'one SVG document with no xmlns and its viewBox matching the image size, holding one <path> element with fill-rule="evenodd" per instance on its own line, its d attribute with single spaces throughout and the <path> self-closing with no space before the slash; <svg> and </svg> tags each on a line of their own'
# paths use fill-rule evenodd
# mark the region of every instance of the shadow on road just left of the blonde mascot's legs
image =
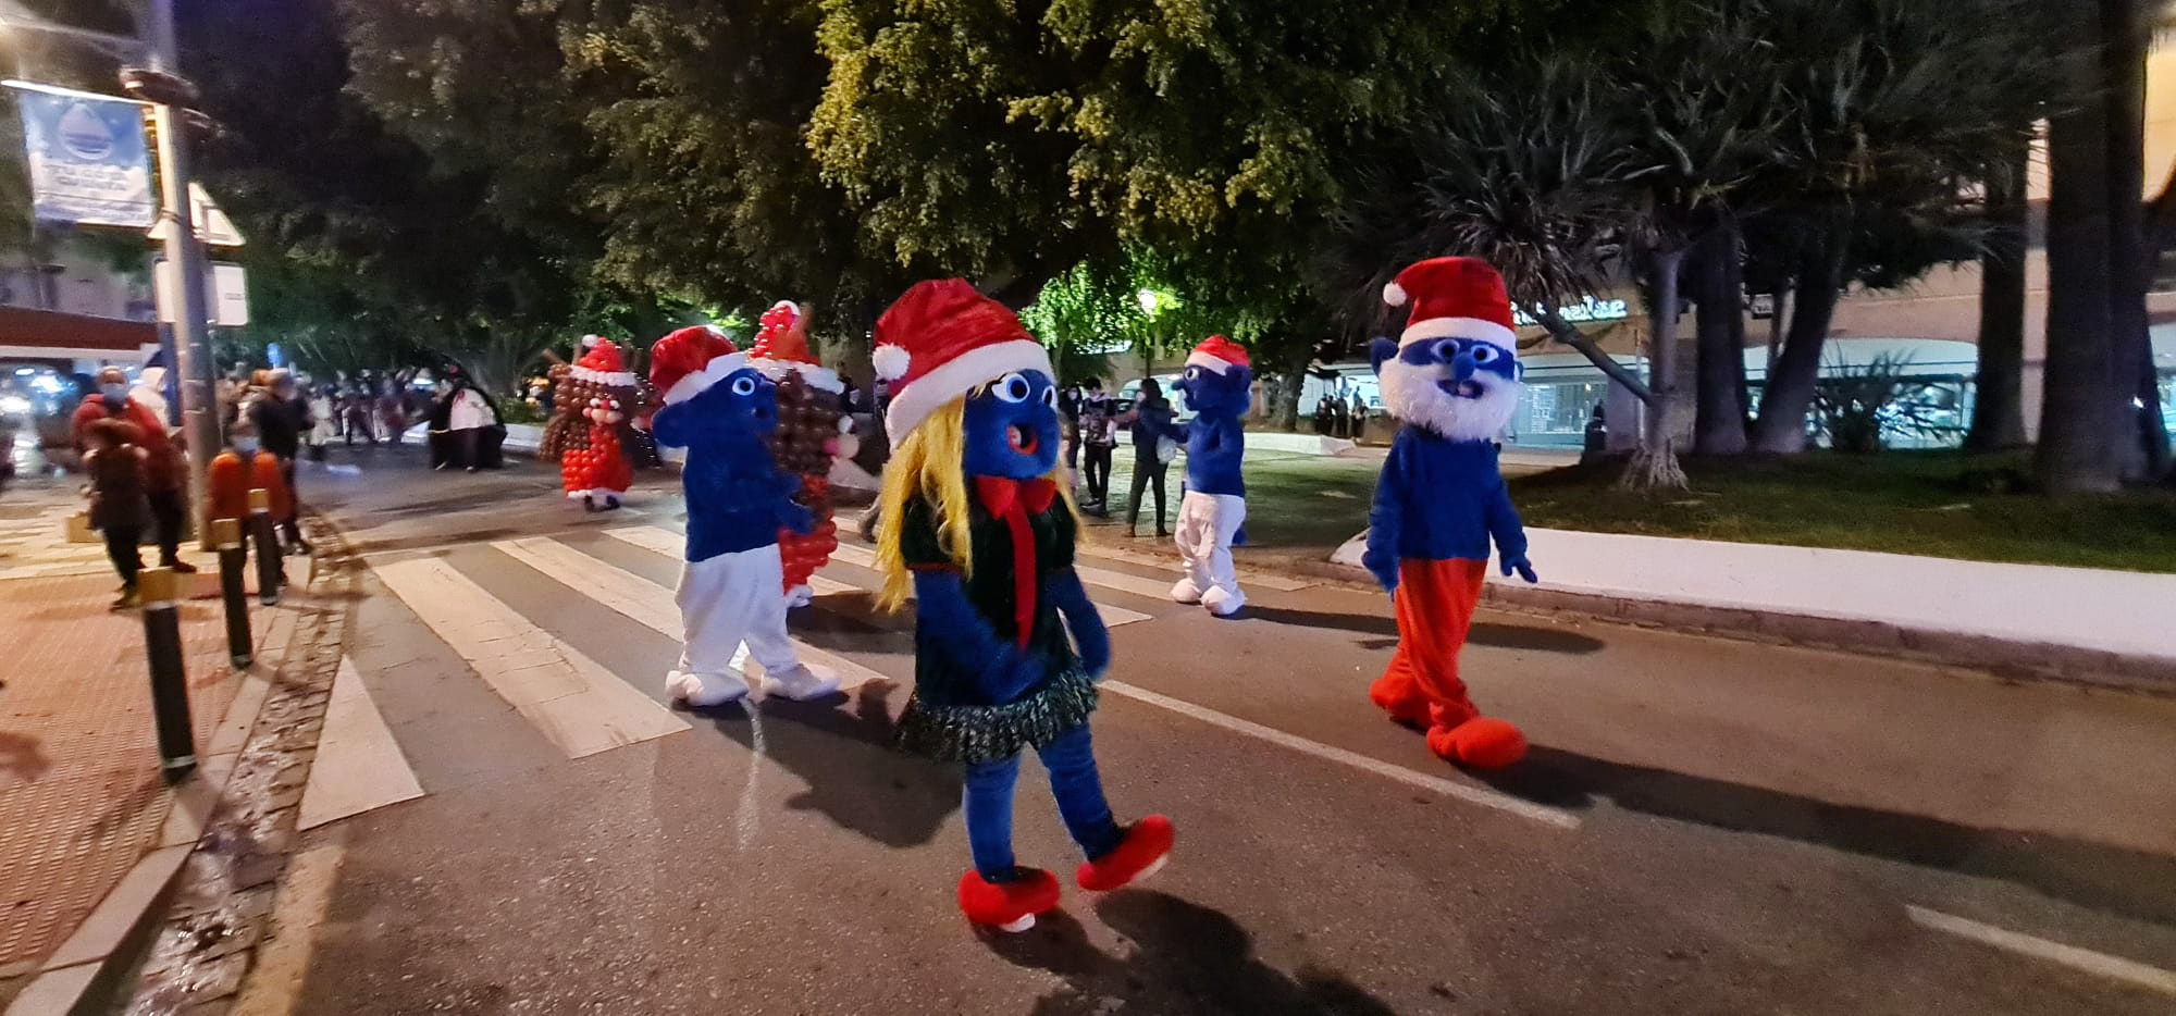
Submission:
<svg viewBox="0 0 2176 1016">
<path fill-rule="evenodd" d="M 890 696 L 897 690 L 890 681 L 870 681 L 846 707 L 840 707 L 844 696 L 757 705 L 762 757 L 807 783 L 788 807 L 818 811 L 886 846 L 936 838 L 960 807 L 960 770 L 892 751 Z M 755 724 L 742 707 L 694 716 L 707 716 L 718 733 L 755 751 Z"/>
</svg>

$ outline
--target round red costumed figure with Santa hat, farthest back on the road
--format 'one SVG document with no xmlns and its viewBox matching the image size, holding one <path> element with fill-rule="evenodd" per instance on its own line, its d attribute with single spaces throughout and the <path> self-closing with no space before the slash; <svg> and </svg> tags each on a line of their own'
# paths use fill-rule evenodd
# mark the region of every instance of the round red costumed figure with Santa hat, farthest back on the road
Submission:
<svg viewBox="0 0 2176 1016">
<path fill-rule="evenodd" d="M 568 498 L 581 498 L 588 511 L 611 511 L 635 483 L 629 450 L 644 439 L 635 418 L 648 407 L 618 346 L 596 335 L 581 344 L 585 352 L 559 383 L 537 455 L 559 459 Z"/>
</svg>

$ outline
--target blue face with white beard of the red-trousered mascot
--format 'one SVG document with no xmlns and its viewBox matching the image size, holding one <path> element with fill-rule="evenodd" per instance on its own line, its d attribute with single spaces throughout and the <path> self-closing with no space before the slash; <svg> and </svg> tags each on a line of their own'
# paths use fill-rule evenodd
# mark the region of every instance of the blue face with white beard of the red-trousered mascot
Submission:
<svg viewBox="0 0 2176 1016">
<path fill-rule="evenodd" d="M 1390 416 L 1454 442 L 1493 439 L 1519 409 L 1519 359 L 1491 342 L 1375 339 L 1369 359 Z"/>
</svg>

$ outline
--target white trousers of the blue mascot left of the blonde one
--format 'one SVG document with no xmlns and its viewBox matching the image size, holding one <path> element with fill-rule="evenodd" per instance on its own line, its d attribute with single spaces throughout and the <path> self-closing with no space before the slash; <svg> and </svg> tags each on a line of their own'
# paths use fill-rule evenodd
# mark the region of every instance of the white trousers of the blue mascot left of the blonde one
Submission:
<svg viewBox="0 0 2176 1016">
<path fill-rule="evenodd" d="M 742 642 L 749 644 L 749 657 L 766 672 L 799 670 L 801 659 L 786 637 L 786 596 L 779 594 L 783 587 L 786 566 L 779 561 L 779 544 L 683 563 L 675 600 L 681 607 L 685 646 L 672 679 L 685 674 L 740 681 L 733 653 Z"/>
</svg>

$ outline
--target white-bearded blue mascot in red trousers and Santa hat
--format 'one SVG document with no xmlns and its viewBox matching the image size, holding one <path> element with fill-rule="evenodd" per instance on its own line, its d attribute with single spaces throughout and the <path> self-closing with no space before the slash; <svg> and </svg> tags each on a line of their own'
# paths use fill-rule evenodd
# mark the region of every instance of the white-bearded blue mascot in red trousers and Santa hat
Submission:
<svg viewBox="0 0 2176 1016">
<path fill-rule="evenodd" d="M 1369 687 L 1395 720 L 1427 731 L 1427 748 L 1471 768 L 1525 755 L 1517 727 L 1482 716 L 1458 679 L 1488 542 L 1504 574 L 1534 579 L 1525 529 L 1497 472 L 1495 437 L 1519 405 L 1519 355 L 1504 276 L 1486 261 L 1438 257 L 1384 287 L 1412 302 L 1397 342 L 1369 350 L 1382 402 L 1406 422 L 1375 483 L 1367 568 L 1397 605 L 1397 655 Z"/>
</svg>

